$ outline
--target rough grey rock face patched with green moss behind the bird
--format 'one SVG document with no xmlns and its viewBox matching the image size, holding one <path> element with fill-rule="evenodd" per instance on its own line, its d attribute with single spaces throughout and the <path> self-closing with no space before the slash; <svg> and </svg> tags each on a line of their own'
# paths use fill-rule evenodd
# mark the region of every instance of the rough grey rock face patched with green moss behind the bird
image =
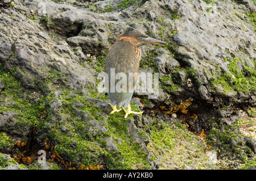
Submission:
<svg viewBox="0 0 256 181">
<path fill-rule="evenodd" d="M 1 0 L 0 153 L 28 169 L 255 168 L 255 10 L 250 0 Z M 97 77 L 128 26 L 168 45 L 142 47 L 139 71 L 159 73 L 159 95 L 136 92 L 144 113 L 124 119 L 109 115 Z"/>
</svg>

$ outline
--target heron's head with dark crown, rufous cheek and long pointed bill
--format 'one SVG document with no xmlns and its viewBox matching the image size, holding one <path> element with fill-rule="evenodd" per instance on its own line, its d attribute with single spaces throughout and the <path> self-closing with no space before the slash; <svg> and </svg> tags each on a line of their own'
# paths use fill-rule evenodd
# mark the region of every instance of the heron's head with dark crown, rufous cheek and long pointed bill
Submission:
<svg viewBox="0 0 256 181">
<path fill-rule="evenodd" d="M 166 45 L 167 43 L 164 41 L 153 39 L 152 37 L 148 37 L 144 33 L 135 30 L 132 27 L 126 28 L 125 31 L 121 35 L 118 35 L 117 41 L 129 41 L 135 47 L 141 47 L 146 44 L 160 44 Z"/>
</svg>

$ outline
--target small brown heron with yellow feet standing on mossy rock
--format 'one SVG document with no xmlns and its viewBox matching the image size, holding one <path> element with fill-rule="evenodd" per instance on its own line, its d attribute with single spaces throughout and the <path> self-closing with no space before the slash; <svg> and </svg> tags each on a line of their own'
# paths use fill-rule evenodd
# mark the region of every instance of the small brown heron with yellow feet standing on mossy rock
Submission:
<svg viewBox="0 0 256 181">
<path fill-rule="evenodd" d="M 143 113 L 143 111 L 131 111 L 130 102 L 138 78 L 141 47 L 146 44 L 167 43 L 148 37 L 133 27 L 127 27 L 110 47 L 104 66 L 106 92 L 113 110 L 110 114 L 123 110 L 127 118 L 130 113 L 137 115 Z M 120 78 L 122 79 L 119 80 Z M 120 109 L 118 110 L 117 107 Z"/>
</svg>

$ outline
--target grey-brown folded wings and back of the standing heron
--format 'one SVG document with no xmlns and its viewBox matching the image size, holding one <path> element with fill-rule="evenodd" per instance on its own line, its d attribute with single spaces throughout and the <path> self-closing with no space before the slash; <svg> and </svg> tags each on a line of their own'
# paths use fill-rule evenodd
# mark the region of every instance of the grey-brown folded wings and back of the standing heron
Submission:
<svg viewBox="0 0 256 181">
<path fill-rule="evenodd" d="M 108 81 L 106 81 L 106 86 L 109 87 L 107 93 L 112 104 L 118 105 L 118 107 L 122 107 L 123 104 L 125 104 L 126 108 L 133 96 L 139 69 L 139 60 L 134 51 L 134 48 L 130 45 L 118 45 L 117 43 L 109 50 L 106 57 L 105 73 L 109 76 Z M 115 68 L 114 78 L 110 78 L 110 74 L 113 73 L 111 68 Z M 115 75 L 117 75 L 117 73 L 124 73 L 126 75 L 126 79 L 115 79 Z M 117 91 L 116 88 L 118 87 L 118 84 L 127 86 L 126 90 L 124 92 Z M 111 89 L 113 90 L 111 85 L 114 85 L 115 91 L 111 91 Z"/>
</svg>

